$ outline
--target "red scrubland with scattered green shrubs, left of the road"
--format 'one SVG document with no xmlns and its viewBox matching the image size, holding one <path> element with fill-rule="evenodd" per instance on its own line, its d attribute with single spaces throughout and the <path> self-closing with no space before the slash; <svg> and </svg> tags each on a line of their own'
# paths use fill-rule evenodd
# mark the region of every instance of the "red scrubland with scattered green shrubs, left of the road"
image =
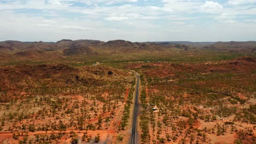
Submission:
<svg viewBox="0 0 256 144">
<path fill-rule="evenodd" d="M 0 128 L 1 131 L 11 131 L 14 142 L 70 140 L 77 143 L 77 131 L 126 130 L 135 83 L 131 72 L 112 68 L 109 74 L 111 68 L 73 68 L 66 65 L 42 65 L 31 69 L 42 75 L 15 67 L 12 72 L 20 75 L 1 77 L 4 83 L 0 93 Z M 23 70 L 31 75 L 22 76 Z M 24 77 L 27 79 L 22 79 Z M 7 91 L 12 88 L 18 91 Z M 127 88 L 130 91 L 126 99 Z M 35 137 L 28 133 L 35 133 Z M 81 140 L 99 142 L 100 139 L 100 135 L 85 132 Z"/>
</svg>

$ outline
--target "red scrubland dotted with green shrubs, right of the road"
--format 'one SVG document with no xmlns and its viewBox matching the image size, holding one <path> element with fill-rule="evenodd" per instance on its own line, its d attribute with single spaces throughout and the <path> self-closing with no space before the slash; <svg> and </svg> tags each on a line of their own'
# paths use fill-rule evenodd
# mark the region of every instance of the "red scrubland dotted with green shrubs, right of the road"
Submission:
<svg viewBox="0 0 256 144">
<path fill-rule="evenodd" d="M 255 68 L 246 58 L 136 67 L 142 74 L 141 142 L 255 142 Z"/>
</svg>

